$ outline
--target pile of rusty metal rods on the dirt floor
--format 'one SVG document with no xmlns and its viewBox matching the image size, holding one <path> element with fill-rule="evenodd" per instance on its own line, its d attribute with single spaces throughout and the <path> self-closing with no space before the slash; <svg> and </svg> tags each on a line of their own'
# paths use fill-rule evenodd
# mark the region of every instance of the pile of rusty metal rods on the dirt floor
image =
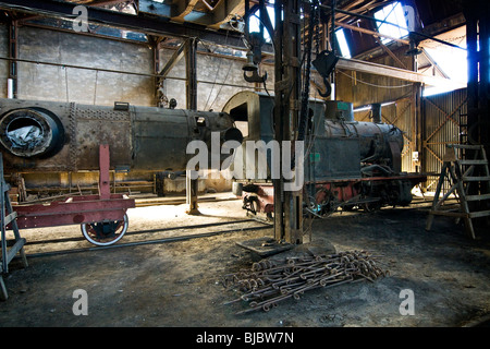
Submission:
<svg viewBox="0 0 490 349">
<path fill-rule="evenodd" d="M 379 256 L 366 251 L 340 252 L 331 255 L 286 257 L 283 261 L 264 260 L 224 276 L 224 286 L 243 294 L 224 304 L 248 302 L 249 308 L 237 312 L 269 311 L 286 299 L 299 300 L 305 291 L 329 288 L 367 279 L 375 281 L 388 270 L 377 266 Z"/>
</svg>

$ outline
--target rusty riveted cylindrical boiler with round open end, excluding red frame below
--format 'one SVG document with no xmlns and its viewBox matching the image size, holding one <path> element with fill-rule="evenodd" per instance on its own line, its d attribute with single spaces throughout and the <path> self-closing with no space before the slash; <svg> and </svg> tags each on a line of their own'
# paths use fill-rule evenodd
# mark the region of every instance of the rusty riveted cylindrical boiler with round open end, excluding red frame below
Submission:
<svg viewBox="0 0 490 349">
<path fill-rule="evenodd" d="M 179 171 L 195 156 L 192 141 L 243 140 L 224 112 L 20 99 L 0 99 L 0 132 L 5 170 L 20 172 L 98 170 L 101 144 L 111 169 Z"/>
</svg>

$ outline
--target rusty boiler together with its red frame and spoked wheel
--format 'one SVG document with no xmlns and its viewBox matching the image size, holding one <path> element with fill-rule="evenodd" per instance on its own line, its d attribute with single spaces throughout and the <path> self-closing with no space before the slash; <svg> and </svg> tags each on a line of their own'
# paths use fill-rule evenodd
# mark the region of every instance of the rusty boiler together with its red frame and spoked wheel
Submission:
<svg viewBox="0 0 490 349">
<path fill-rule="evenodd" d="M 242 133 L 224 112 L 125 103 L 109 107 L 0 99 L 0 160 L 4 172 L 99 171 L 97 195 L 15 205 L 17 219 L 12 225 L 16 227 L 9 228 L 79 224 L 89 242 L 115 243 L 127 230 L 126 210 L 135 207 L 135 201 L 111 193 L 109 171 L 186 170 L 195 156 L 187 154 L 187 145 L 200 141 L 211 148 L 217 140 L 220 145 L 242 142 Z M 219 156 L 223 160 L 230 155 Z M 204 161 L 212 165 L 211 159 L 212 154 Z"/>
</svg>

